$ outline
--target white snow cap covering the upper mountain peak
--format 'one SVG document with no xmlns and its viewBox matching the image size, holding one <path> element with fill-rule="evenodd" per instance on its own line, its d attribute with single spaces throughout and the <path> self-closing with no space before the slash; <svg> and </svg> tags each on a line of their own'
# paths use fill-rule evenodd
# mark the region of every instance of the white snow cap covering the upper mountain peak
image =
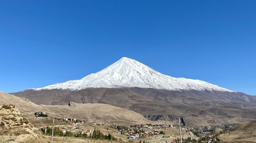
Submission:
<svg viewBox="0 0 256 143">
<path fill-rule="evenodd" d="M 153 88 L 172 91 L 180 90 L 210 90 L 227 91 L 230 90 L 218 87 L 217 85 L 194 79 L 175 78 L 160 72 L 130 58 L 123 57 L 105 69 L 92 73 L 80 80 L 70 80 L 67 82 L 48 85 L 42 89 L 69 89 L 82 90 L 86 88 Z"/>
</svg>

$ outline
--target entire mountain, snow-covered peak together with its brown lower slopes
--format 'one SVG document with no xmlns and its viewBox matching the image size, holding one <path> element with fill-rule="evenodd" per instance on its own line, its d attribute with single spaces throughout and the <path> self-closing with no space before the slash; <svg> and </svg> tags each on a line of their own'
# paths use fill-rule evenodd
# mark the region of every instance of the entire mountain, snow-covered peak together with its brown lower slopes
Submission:
<svg viewBox="0 0 256 143">
<path fill-rule="evenodd" d="M 122 58 L 80 80 L 12 93 L 37 104 L 104 103 L 153 121 L 183 116 L 190 125 L 245 123 L 256 118 L 256 98 L 200 80 L 163 75 Z"/>
</svg>

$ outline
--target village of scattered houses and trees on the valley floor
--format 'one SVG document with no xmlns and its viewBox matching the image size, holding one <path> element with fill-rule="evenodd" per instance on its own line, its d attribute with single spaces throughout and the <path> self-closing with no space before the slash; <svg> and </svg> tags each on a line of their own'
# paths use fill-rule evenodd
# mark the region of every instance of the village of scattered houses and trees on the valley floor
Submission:
<svg viewBox="0 0 256 143">
<path fill-rule="evenodd" d="M 39 120 L 46 120 L 49 119 L 47 114 L 45 112 L 36 112 L 35 117 Z M 41 118 L 44 117 L 44 118 Z M 110 135 L 115 136 L 119 138 L 119 140 L 150 140 L 154 137 L 161 137 L 163 139 L 166 138 L 173 138 L 172 142 L 177 142 L 179 139 L 178 134 L 170 132 L 173 130 L 178 130 L 178 126 L 171 125 L 171 124 L 141 124 L 141 125 L 131 125 L 131 126 L 124 126 L 124 125 L 108 125 L 106 123 L 100 124 L 96 122 L 88 122 L 86 120 L 82 119 L 76 119 L 76 118 L 54 118 L 55 123 L 59 122 L 58 124 L 54 124 L 54 129 L 58 130 L 61 133 L 58 133 L 58 135 L 62 136 L 70 136 L 70 134 L 73 134 L 74 136 L 80 136 L 81 137 L 91 137 L 94 135 L 94 132 L 97 130 L 102 131 L 103 136 L 104 135 Z M 62 123 L 62 124 L 61 124 Z M 64 124 L 65 123 L 65 124 Z M 53 124 L 49 123 L 44 126 L 40 127 L 40 130 L 47 134 L 47 130 L 51 130 L 53 127 Z M 212 132 L 210 131 L 203 131 L 203 130 L 196 130 L 194 128 L 189 128 L 186 126 L 182 126 L 182 134 L 184 137 L 183 142 L 197 142 L 197 140 L 206 140 L 205 142 L 218 142 L 217 139 L 214 139 L 212 135 L 210 135 Z M 172 136 L 172 134 L 174 134 Z M 199 137 L 200 134 L 200 137 Z M 49 134 L 51 135 L 51 134 Z M 188 139 L 186 139 L 188 138 Z M 187 141 L 186 141 L 187 140 Z"/>
</svg>

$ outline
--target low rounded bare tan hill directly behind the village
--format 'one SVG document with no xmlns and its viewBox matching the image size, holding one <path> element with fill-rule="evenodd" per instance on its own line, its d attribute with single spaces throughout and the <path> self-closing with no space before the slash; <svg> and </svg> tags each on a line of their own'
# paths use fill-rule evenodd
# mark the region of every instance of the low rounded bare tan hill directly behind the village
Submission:
<svg viewBox="0 0 256 143">
<path fill-rule="evenodd" d="M 68 105 L 42 105 L 51 108 L 58 117 L 75 117 L 77 119 L 86 119 L 89 122 L 108 123 L 108 124 L 148 124 L 153 123 L 145 119 L 142 115 L 135 111 L 101 103 Z M 56 116 L 55 116 L 56 117 Z"/>
</svg>

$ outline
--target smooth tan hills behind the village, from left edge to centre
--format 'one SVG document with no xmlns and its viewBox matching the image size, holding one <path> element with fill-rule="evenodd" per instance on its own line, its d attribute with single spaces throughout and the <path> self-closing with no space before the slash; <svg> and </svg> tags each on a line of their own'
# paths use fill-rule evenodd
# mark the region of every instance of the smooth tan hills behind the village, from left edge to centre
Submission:
<svg viewBox="0 0 256 143">
<path fill-rule="evenodd" d="M 33 115 L 36 111 L 45 111 L 51 117 L 70 117 L 87 119 L 91 122 L 108 124 L 146 124 L 152 123 L 135 111 L 123 109 L 108 104 L 78 104 L 68 105 L 37 105 L 28 99 L 0 92 L 0 105 L 13 104 L 25 114 Z"/>
</svg>

